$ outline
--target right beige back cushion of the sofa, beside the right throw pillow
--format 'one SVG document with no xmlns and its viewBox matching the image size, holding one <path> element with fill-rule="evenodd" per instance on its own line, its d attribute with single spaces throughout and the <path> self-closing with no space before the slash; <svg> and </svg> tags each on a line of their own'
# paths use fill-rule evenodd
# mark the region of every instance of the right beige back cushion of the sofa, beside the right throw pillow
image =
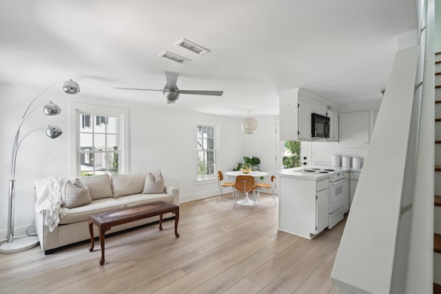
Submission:
<svg viewBox="0 0 441 294">
<path fill-rule="evenodd" d="M 112 189 L 114 198 L 141 193 L 144 189 L 147 171 L 135 174 L 113 174 Z"/>
</svg>

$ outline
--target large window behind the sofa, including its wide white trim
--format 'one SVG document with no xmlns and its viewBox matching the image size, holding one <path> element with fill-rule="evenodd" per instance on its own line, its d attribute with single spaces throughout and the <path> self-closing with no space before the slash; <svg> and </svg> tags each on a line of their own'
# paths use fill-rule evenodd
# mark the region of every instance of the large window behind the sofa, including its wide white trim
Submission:
<svg viewBox="0 0 441 294">
<path fill-rule="evenodd" d="M 128 110 L 70 103 L 70 174 L 128 172 Z"/>
</svg>

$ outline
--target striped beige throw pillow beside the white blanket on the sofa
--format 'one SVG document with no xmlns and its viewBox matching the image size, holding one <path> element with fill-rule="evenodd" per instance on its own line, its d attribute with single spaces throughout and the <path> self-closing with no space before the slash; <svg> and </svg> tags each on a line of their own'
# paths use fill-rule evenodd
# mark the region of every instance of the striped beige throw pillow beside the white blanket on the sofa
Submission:
<svg viewBox="0 0 441 294">
<path fill-rule="evenodd" d="M 89 188 L 78 178 L 71 182 L 68 180 L 61 188 L 61 198 L 63 207 L 74 208 L 80 207 L 92 202 L 90 198 Z"/>
</svg>

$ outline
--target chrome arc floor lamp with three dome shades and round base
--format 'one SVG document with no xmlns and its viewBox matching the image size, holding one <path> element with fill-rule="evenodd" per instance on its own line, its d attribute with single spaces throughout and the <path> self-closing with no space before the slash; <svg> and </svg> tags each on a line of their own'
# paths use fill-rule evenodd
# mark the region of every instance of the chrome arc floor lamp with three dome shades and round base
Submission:
<svg viewBox="0 0 441 294">
<path fill-rule="evenodd" d="M 48 85 L 48 87 L 45 87 L 43 90 L 41 90 L 41 92 L 39 92 L 39 94 L 37 94 L 37 96 L 35 96 L 32 99 L 32 101 L 30 101 L 28 107 L 26 107 L 25 112 L 23 113 L 23 116 L 21 117 L 19 127 L 17 128 L 17 132 L 15 133 L 14 143 L 12 144 L 12 158 L 11 158 L 10 180 L 9 180 L 8 235 L 6 236 L 7 238 L 6 243 L 1 244 L 0 246 L 1 253 L 14 253 L 14 252 L 25 251 L 39 244 L 39 240 L 37 236 L 27 236 L 27 237 L 17 238 L 14 240 L 15 163 L 17 159 L 17 151 L 19 151 L 21 142 L 23 142 L 23 140 L 30 133 L 36 131 L 37 129 L 45 129 L 46 135 L 49 138 L 57 138 L 61 136 L 61 134 L 63 133 L 61 129 L 56 125 L 43 125 L 41 127 L 36 127 L 34 129 L 31 129 L 27 134 L 25 134 L 25 136 L 20 138 L 21 125 L 23 125 L 25 119 L 35 109 L 44 105 L 43 113 L 47 116 L 54 116 L 61 113 L 61 108 L 57 104 L 52 103 L 52 101 L 41 103 L 39 105 L 32 107 L 32 103 L 34 103 L 34 101 L 36 101 L 37 98 L 39 98 L 39 96 L 43 92 L 48 90 L 50 87 L 53 87 L 54 85 L 58 85 L 61 83 L 63 83 L 63 90 L 65 93 L 76 94 L 80 91 L 79 85 L 72 80 L 63 80 L 57 83 L 53 83 L 52 85 Z"/>
</svg>

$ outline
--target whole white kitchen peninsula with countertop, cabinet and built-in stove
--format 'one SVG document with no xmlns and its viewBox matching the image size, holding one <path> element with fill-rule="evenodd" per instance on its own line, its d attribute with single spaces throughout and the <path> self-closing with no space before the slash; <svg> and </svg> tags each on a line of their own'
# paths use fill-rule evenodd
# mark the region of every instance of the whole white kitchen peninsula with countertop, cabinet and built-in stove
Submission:
<svg viewBox="0 0 441 294">
<path fill-rule="evenodd" d="M 279 182 L 278 229 L 312 239 L 349 211 L 350 167 L 303 166 L 271 171 Z"/>
</svg>

